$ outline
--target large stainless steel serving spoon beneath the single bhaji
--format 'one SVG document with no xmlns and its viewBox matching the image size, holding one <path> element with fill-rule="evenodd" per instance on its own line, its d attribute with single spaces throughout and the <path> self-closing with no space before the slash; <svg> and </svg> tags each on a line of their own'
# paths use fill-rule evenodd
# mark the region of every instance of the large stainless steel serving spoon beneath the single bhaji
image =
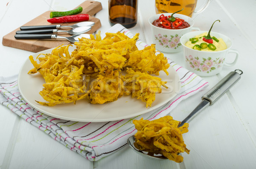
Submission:
<svg viewBox="0 0 256 169">
<path fill-rule="evenodd" d="M 203 95 L 201 103 L 180 123 L 179 126 L 183 126 L 184 123 L 189 123 L 207 106 L 215 103 L 215 101 L 217 101 L 222 95 L 224 95 L 224 93 L 227 92 L 227 90 L 229 90 L 241 78 L 241 74 L 243 74 L 243 72 L 239 69 L 236 69 L 234 72 L 230 72 L 229 74 L 227 74 L 227 76 L 225 76 L 220 82 L 213 86 L 213 88 L 210 89 L 209 92 Z M 148 152 L 137 149 L 134 146 L 134 135 L 128 138 L 127 143 L 135 152 L 139 153 L 140 155 L 145 155 L 146 157 L 153 159 L 167 159 L 163 155 L 148 155 Z"/>
</svg>

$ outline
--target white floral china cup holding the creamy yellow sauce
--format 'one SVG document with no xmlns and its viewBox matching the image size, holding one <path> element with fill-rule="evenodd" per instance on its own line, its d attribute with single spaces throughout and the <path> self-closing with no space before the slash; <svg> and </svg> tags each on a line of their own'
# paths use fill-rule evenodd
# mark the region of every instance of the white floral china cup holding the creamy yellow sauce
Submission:
<svg viewBox="0 0 256 169">
<path fill-rule="evenodd" d="M 180 43 L 183 46 L 183 56 L 185 59 L 186 68 L 198 74 L 199 76 L 212 76 L 221 72 L 223 66 L 234 66 L 239 56 L 239 52 L 235 49 L 231 49 L 232 41 L 224 34 L 217 32 L 210 32 L 211 37 L 214 36 L 217 39 L 222 38 L 227 45 L 227 49 L 222 51 L 198 51 L 185 46 L 185 43 L 190 38 L 196 35 L 202 34 L 208 31 L 194 31 L 184 34 L 180 38 Z M 229 53 L 235 53 L 236 57 L 232 63 L 225 63 L 225 58 Z"/>
</svg>

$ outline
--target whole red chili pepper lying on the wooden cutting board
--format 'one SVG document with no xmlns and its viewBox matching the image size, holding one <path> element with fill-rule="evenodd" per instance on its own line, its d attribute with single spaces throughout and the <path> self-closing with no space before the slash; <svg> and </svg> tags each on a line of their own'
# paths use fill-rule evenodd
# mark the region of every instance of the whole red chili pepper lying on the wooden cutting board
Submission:
<svg viewBox="0 0 256 169">
<path fill-rule="evenodd" d="M 89 20 L 88 14 L 75 14 L 75 15 L 67 15 L 63 17 L 54 17 L 50 18 L 47 21 L 49 23 L 64 23 L 64 22 L 80 22 L 84 20 Z"/>
</svg>

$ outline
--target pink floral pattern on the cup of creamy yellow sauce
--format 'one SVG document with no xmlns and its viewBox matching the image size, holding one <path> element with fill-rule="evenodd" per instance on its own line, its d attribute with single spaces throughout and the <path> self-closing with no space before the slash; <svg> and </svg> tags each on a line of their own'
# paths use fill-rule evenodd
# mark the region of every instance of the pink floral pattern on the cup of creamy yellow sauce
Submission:
<svg viewBox="0 0 256 169">
<path fill-rule="evenodd" d="M 186 56 L 186 62 L 189 62 L 190 67 L 192 67 L 195 71 L 199 72 L 212 72 L 216 68 L 220 68 L 224 63 L 225 58 L 217 58 L 216 60 L 212 60 L 211 57 L 203 58 L 200 60 L 198 57 L 192 57 L 192 55 Z"/>
</svg>

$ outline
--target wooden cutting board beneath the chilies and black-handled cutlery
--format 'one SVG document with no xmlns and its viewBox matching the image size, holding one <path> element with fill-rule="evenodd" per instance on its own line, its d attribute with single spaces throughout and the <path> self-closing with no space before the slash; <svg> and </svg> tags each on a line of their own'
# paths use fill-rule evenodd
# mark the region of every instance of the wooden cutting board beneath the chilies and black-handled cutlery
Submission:
<svg viewBox="0 0 256 169">
<path fill-rule="evenodd" d="M 102 5 L 100 2 L 97 1 L 91 1 L 91 0 L 86 0 L 83 3 L 81 3 L 79 6 L 81 6 L 83 8 L 83 11 L 81 12 L 81 14 L 89 14 L 89 20 L 88 21 L 92 21 L 95 23 L 94 26 L 92 26 L 92 29 L 88 32 L 86 32 L 86 34 L 92 34 L 93 32 L 95 32 L 97 29 L 99 29 L 101 27 L 101 23 L 100 20 L 96 17 L 91 17 L 92 15 L 96 14 L 98 11 L 102 10 Z M 79 7 L 77 6 L 77 7 Z M 76 8 L 77 8 L 76 7 Z M 75 8 L 75 9 L 76 9 Z M 71 10 L 71 9 L 70 9 Z M 50 17 L 50 12 L 51 11 L 47 11 L 41 15 L 39 15 L 38 17 L 34 18 L 33 20 L 29 21 L 28 23 L 24 24 L 23 26 L 37 26 L 37 25 L 73 25 L 76 24 L 77 22 L 72 22 L 72 23 L 49 23 L 47 22 L 47 19 L 49 19 Z M 71 42 L 69 42 L 68 40 L 59 40 L 59 39 L 29 39 L 29 40 L 21 40 L 21 39 L 15 39 L 15 34 L 16 31 L 20 30 L 20 28 L 15 29 L 14 31 L 10 32 L 9 34 L 6 34 L 3 37 L 3 45 L 4 46 L 9 46 L 9 47 L 13 47 L 13 48 L 17 48 L 17 49 L 23 49 L 26 51 L 30 51 L 30 52 L 40 52 L 46 49 L 51 49 L 57 46 L 60 46 L 61 44 L 64 45 L 68 45 L 68 44 L 72 44 Z M 64 30 L 64 29 L 63 29 Z M 69 30 L 69 29 L 67 29 Z M 71 36 L 70 34 L 67 33 L 58 33 L 59 36 Z"/>
</svg>

